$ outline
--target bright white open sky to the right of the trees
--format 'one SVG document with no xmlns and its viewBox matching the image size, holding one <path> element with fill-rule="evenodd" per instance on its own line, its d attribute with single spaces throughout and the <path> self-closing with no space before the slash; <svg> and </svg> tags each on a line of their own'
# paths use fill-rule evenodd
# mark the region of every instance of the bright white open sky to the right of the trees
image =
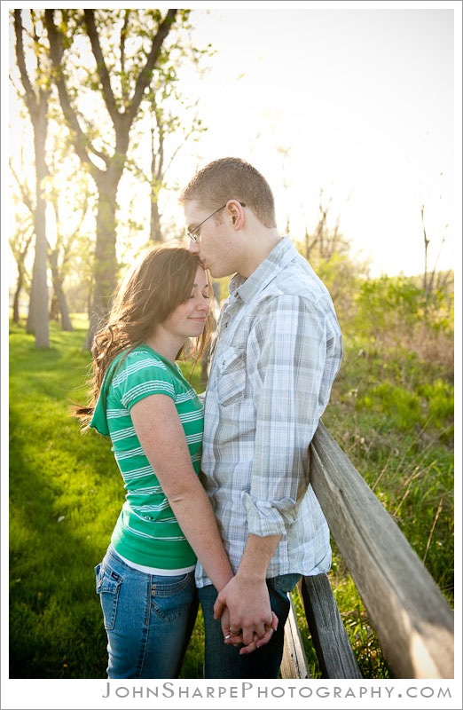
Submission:
<svg viewBox="0 0 463 710">
<path fill-rule="evenodd" d="M 373 275 L 422 272 L 424 204 L 428 265 L 445 237 L 437 264 L 453 268 L 461 194 L 454 176 L 461 178 L 461 43 L 454 49 L 453 36 L 461 5 L 357 7 L 195 10 L 194 37 L 217 52 L 200 83 L 209 126 L 200 164 L 225 154 L 253 162 L 276 195 L 280 228 L 289 217 L 294 236 L 317 224 L 323 189 L 354 251 L 371 257 Z"/>
</svg>

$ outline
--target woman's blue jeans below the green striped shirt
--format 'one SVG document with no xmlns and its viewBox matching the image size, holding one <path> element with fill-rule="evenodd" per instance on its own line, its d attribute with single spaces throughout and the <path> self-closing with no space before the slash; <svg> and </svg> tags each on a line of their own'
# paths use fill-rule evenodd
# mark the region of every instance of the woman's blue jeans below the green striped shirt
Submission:
<svg viewBox="0 0 463 710">
<path fill-rule="evenodd" d="M 194 572 L 138 572 L 112 548 L 95 567 L 108 678 L 177 678 L 198 610 Z"/>
</svg>

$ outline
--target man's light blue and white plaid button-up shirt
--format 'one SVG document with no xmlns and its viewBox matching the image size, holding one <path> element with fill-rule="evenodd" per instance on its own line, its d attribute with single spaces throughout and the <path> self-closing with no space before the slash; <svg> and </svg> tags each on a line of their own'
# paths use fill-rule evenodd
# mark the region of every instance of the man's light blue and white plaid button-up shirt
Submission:
<svg viewBox="0 0 463 710">
<path fill-rule="evenodd" d="M 267 577 L 330 567 L 308 446 L 341 354 L 331 296 L 289 238 L 247 279 L 232 279 L 205 398 L 201 469 L 235 572 L 249 533 L 282 536 Z M 200 563 L 196 576 L 198 586 L 210 584 Z"/>
</svg>

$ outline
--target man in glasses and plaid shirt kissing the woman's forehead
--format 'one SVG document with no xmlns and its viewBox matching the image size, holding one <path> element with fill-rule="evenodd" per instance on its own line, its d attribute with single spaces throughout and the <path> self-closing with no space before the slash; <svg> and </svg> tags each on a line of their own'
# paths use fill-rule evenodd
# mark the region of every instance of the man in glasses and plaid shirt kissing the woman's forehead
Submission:
<svg viewBox="0 0 463 710">
<path fill-rule="evenodd" d="M 205 677 L 276 678 L 287 594 L 302 574 L 331 565 L 308 446 L 341 364 L 341 331 L 326 287 L 279 234 L 271 188 L 252 165 L 209 163 L 180 202 L 190 249 L 213 277 L 234 274 L 208 380 L 201 469 L 235 576 L 217 597 L 197 568 Z"/>
</svg>

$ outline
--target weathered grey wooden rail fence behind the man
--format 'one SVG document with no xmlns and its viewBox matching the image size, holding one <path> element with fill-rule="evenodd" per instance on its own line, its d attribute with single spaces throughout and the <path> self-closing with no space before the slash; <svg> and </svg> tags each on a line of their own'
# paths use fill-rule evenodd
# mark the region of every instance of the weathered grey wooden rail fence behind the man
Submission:
<svg viewBox="0 0 463 710">
<path fill-rule="evenodd" d="M 396 678 L 453 678 L 453 612 L 388 511 L 323 423 L 310 444 L 310 482 Z M 325 678 L 360 678 L 325 574 L 302 579 L 302 603 Z M 292 606 L 284 678 L 307 678 Z"/>
</svg>

